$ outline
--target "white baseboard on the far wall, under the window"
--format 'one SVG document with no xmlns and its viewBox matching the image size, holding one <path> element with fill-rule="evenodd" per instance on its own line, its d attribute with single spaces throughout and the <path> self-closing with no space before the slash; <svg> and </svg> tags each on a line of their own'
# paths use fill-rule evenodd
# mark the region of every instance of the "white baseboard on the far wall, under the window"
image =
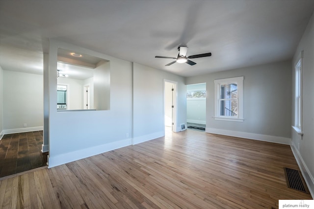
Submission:
<svg viewBox="0 0 314 209">
<path fill-rule="evenodd" d="M 230 130 L 215 129 L 215 128 L 206 128 L 205 132 L 210 133 L 210 134 L 220 134 L 220 135 L 226 135 L 226 136 L 231 136 L 231 137 L 240 137 L 240 138 L 245 138 L 245 139 L 254 139 L 254 140 L 268 141 L 268 142 L 288 144 L 288 145 L 290 145 L 290 141 L 291 141 L 291 139 L 284 138 L 284 137 L 275 137 L 275 136 L 269 136 L 269 135 L 253 134 L 253 133 L 247 133 L 247 132 L 230 131 Z"/>
</svg>

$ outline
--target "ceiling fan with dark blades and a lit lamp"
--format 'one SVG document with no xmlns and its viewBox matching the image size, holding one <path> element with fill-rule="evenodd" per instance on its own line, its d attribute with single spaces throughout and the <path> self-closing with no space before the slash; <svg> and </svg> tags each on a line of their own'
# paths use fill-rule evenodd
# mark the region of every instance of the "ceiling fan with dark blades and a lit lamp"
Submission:
<svg viewBox="0 0 314 209">
<path fill-rule="evenodd" d="M 178 54 L 177 58 L 175 58 L 175 57 L 163 57 L 163 56 L 155 56 L 155 58 L 176 59 L 176 61 L 173 61 L 173 62 L 165 65 L 165 66 L 170 66 L 176 62 L 187 63 L 189 65 L 195 65 L 196 64 L 195 62 L 188 60 L 188 59 L 194 59 L 194 58 L 200 58 L 200 57 L 210 57 L 211 56 L 211 53 L 209 52 L 209 53 L 196 54 L 196 55 L 191 55 L 191 56 L 186 57 L 186 52 L 187 52 L 186 46 L 179 46 L 178 50 L 179 50 L 179 54 Z"/>
</svg>

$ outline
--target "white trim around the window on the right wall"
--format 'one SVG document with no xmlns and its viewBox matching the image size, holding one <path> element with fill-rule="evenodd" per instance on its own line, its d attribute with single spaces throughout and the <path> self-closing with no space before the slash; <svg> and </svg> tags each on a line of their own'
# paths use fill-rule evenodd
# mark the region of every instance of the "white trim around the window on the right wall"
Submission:
<svg viewBox="0 0 314 209">
<path fill-rule="evenodd" d="M 299 135 L 303 135 L 302 131 L 302 115 L 303 115 L 303 105 L 302 105 L 302 100 L 303 100 L 303 94 L 302 94 L 302 83 L 303 83 L 303 78 L 302 78 L 302 61 L 303 61 L 303 51 L 300 52 L 300 55 L 297 59 L 296 64 L 294 65 L 294 125 L 292 128 L 296 133 Z M 300 67 L 299 67 L 300 66 Z M 296 83 L 296 72 L 297 70 L 299 71 L 299 81 L 298 81 L 298 88 L 297 88 L 297 83 Z M 299 97 L 300 97 L 300 103 L 297 104 L 296 100 L 296 95 L 297 95 L 297 90 L 299 91 Z M 299 125 L 300 123 L 300 125 Z"/>
</svg>

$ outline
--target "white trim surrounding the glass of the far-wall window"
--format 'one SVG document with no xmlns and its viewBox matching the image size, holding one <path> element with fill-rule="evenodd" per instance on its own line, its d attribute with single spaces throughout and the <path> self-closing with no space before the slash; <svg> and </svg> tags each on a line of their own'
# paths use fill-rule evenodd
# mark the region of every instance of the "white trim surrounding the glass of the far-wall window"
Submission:
<svg viewBox="0 0 314 209">
<path fill-rule="evenodd" d="M 243 122 L 243 76 L 234 77 L 234 78 L 224 78 L 224 79 L 217 79 L 214 80 L 214 119 L 215 120 L 225 120 L 225 121 L 236 121 L 236 122 Z M 219 86 L 221 84 L 237 84 L 237 91 L 238 91 L 238 114 L 237 116 L 220 116 L 219 114 Z"/>
</svg>

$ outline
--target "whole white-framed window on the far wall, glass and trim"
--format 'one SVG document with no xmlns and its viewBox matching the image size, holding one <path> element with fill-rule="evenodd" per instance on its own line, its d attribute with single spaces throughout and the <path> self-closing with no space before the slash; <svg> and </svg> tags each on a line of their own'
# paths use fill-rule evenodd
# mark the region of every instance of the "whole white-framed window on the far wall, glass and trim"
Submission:
<svg viewBox="0 0 314 209">
<path fill-rule="evenodd" d="M 243 76 L 215 80 L 214 84 L 214 118 L 243 122 Z"/>
</svg>

